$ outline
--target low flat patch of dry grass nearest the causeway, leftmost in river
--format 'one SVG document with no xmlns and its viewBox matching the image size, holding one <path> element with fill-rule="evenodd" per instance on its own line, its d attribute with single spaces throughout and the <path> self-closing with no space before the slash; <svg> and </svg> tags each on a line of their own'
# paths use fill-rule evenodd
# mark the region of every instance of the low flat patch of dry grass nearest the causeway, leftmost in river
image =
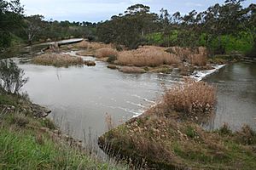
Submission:
<svg viewBox="0 0 256 170">
<path fill-rule="evenodd" d="M 32 63 L 36 65 L 68 66 L 84 65 L 84 60 L 69 54 L 41 54 L 32 59 Z"/>
</svg>

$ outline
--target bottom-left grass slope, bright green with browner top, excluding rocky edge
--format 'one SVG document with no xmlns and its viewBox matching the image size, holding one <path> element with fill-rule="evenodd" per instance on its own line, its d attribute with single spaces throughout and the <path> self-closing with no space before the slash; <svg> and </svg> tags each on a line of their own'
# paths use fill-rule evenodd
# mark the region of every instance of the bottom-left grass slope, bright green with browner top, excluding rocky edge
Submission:
<svg viewBox="0 0 256 170">
<path fill-rule="evenodd" d="M 2 116 L 0 169 L 125 169 L 53 140 L 39 130 L 43 121 L 22 114 Z"/>
</svg>

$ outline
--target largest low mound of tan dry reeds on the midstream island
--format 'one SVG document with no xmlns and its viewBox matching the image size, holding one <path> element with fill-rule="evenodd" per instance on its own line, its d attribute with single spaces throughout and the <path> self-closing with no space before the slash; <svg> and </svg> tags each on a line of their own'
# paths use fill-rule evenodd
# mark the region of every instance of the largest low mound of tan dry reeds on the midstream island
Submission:
<svg viewBox="0 0 256 170">
<path fill-rule="evenodd" d="M 159 66 L 177 64 L 180 60 L 175 54 L 168 54 L 158 48 L 138 48 L 123 51 L 118 55 L 119 65 Z"/>
</svg>

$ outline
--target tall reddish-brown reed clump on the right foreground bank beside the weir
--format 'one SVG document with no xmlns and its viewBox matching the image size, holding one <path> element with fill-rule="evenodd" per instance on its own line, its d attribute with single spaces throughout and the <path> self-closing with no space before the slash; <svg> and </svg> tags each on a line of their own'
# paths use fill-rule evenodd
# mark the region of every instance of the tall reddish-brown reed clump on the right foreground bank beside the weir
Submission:
<svg viewBox="0 0 256 170">
<path fill-rule="evenodd" d="M 187 79 L 183 84 L 170 88 L 164 95 L 168 111 L 178 111 L 191 116 L 212 113 L 216 103 L 216 88 L 207 82 Z"/>
</svg>

